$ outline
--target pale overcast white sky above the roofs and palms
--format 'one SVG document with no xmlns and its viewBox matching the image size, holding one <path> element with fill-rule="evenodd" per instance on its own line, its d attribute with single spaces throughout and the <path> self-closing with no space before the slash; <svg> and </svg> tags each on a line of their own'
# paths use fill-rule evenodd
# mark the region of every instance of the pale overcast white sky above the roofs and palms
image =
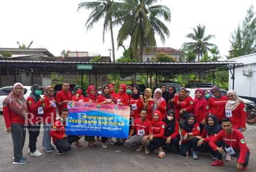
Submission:
<svg viewBox="0 0 256 172">
<path fill-rule="evenodd" d="M 78 4 L 87 0 L 1 0 L 0 1 L 0 47 L 18 47 L 17 41 L 26 44 L 33 40 L 31 48 L 46 48 L 55 56 L 62 50 L 88 51 L 90 55 L 109 55 L 111 38 L 108 32 L 102 42 L 103 20 L 86 31 L 85 22 L 91 11 L 77 11 Z M 91 0 L 97 1 L 97 0 Z M 163 44 L 157 38 L 158 47 L 179 49 L 184 42 L 191 42 L 186 35 L 197 24 L 206 27 L 206 35 L 214 34 L 209 42 L 217 44 L 222 57 L 229 54 L 231 32 L 242 23 L 246 11 L 255 0 L 162 0 L 169 7 L 171 22 L 166 23 L 170 37 Z M 162 19 L 163 21 L 163 19 Z M 114 28 L 114 40 L 120 27 Z M 129 46 L 129 42 L 125 42 Z M 116 59 L 122 56 L 123 48 L 117 50 Z"/>
</svg>

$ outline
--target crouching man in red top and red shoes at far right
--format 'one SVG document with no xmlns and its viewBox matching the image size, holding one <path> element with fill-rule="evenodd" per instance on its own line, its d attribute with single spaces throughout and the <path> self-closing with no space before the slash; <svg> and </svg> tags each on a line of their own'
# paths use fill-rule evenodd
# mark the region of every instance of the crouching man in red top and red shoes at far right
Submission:
<svg viewBox="0 0 256 172">
<path fill-rule="evenodd" d="M 222 153 L 226 152 L 237 157 L 237 170 L 245 171 L 250 157 L 250 150 L 246 145 L 245 137 L 241 132 L 233 129 L 230 118 L 223 118 L 221 126 L 223 130 L 209 143 L 218 157 L 218 161 L 211 163 L 211 166 L 223 166 Z"/>
</svg>

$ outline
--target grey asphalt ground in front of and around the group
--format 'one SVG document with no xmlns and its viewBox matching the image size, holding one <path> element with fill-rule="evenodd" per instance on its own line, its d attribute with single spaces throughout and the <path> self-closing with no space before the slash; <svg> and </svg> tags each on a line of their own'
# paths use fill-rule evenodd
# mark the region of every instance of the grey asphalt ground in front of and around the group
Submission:
<svg viewBox="0 0 256 172">
<path fill-rule="evenodd" d="M 247 125 L 245 132 L 247 145 L 250 148 L 250 161 L 247 171 L 256 170 L 256 125 Z M 83 148 L 72 146 L 72 150 L 64 155 L 45 153 L 42 148 L 42 132 L 38 137 L 38 149 L 43 153 L 41 157 L 31 157 L 27 154 L 29 134 L 26 135 L 26 143 L 23 155 L 29 160 L 26 165 L 13 165 L 13 144 L 11 134 L 6 133 L 3 116 L 0 115 L 0 171 L 235 171 L 236 158 L 231 162 L 225 162 L 223 167 L 212 167 L 209 155 L 199 154 L 199 159 L 194 160 L 191 156 L 177 157 L 173 153 L 166 153 L 163 159 L 157 158 L 156 154 L 145 155 L 143 152 L 135 152 L 126 146 L 110 145 L 102 149 L 87 147 L 83 142 Z M 82 139 L 83 141 L 83 139 Z"/>
</svg>

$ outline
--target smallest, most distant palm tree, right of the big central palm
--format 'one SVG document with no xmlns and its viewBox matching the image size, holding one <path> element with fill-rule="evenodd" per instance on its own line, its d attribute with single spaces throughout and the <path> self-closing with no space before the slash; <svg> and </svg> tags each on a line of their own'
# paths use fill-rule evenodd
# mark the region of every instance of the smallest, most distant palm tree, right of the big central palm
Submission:
<svg viewBox="0 0 256 172">
<path fill-rule="evenodd" d="M 197 28 L 193 28 L 193 32 L 186 36 L 195 40 L 195 42 L 184 43 L 187 46 L 188 50 L 198 55 L 198 62 L 200 57 L 202 58 L 203 54 L 207 54 L 207 51 L 210 50 L 210 47 L 216 46 L 208 42 L 211 38 L 214 38 L 214 35 L 205 36 L 205 26 L 198 24 Z"/>
</svg>

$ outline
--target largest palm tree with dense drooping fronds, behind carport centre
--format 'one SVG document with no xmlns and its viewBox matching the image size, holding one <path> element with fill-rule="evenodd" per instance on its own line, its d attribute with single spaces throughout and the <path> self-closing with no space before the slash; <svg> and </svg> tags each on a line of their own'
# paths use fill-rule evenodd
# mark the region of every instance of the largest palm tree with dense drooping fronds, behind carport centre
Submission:
<svg viewBox="0 0 256 172">
<path fill-rule="evenodd" d="M 143 48 L 157 47 L 155 34 L 160 36 L 163 43 L 165 36 L 170 36 L 165 23 L 158 19 L 163 17 L 165 21 L 170 22 L 170 9 L 163 5 L 152 6 L 154 2 L 157 0 L 123 0 L 119 8 L 113 11 L 116 18 L 113 24 L 122 24 L 118 32 L 118 47 L 130 37 L 130 50 L 134 57 L 137 57 L 140 50 L 140 62 Z"/>
</svg>

